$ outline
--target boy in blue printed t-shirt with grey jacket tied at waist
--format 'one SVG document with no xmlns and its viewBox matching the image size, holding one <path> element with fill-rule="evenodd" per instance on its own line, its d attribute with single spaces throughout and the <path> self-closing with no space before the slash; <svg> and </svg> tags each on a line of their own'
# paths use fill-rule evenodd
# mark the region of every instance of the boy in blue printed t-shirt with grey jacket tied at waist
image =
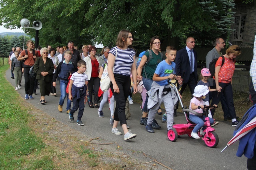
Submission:
<svg viewBox="0 0 256 170">
<path fill-rule="evenodd" d="M 154 133 L 152 122 L 155 119 L 155 114 L 163 102 L 167 113 L 167 129 L 172 128 L 174 104 L 177 102 L 177 96 L 174 89 L 169 85 L 167 80 L 176 79 L 180 80 L 181 76 L 175 76 L 175 63 L 173 62 L 176 57 L 176 49 L 174 47 L 166 47 L 166 59 L 161 61 L 153 75 L 154 82 L 152 83 L 151 90 L 147 92 L 148 98 L 148 113 L 146 130 L 147 132 Z M 179 94 L 180 95 L 180 94 Z"/>
</svg>

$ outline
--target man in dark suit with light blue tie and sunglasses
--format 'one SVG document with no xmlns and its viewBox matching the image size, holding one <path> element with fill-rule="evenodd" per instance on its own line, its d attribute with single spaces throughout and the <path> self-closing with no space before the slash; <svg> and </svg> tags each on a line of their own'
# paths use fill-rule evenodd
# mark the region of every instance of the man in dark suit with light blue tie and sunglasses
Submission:
<svg viewBox="0 0 256 170">
<path fill-rule="evenodd" d="M 194 50 L 195 43 L 196 42 L 194 37 L 188 37 L 186 39 L 187 46 L 177 51 L 176 59 L 174 61 L 176 64 L 176 74 L 183 77 L 183 85 L 180 91 L 181 94 L 183 93 L 187 85 L 190 89 L 191 94 L 194 93 L 194 89 L 197 86 L 197 53 Z M 176 108 L 178 108 L 179 101 L 176 105 Z M 176 109 L 174 109 L 174 116 L 177 116 Z"/>
</svg>

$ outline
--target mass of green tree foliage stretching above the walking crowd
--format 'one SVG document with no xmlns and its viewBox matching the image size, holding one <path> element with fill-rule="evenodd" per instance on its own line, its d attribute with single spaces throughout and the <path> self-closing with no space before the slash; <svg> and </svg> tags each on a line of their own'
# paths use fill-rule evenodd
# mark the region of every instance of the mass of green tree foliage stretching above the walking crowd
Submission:
<svg viewBox="0 0 256 170">
<path fill-rule="evenodd" d="M 19 27 L 22 18 L 40 20 L 41 46 L 91 44 L 114 46 L 117 33 L 129 29 L 134 47 L 149 47 L 152 36 L 167 45 L 183 46 L 187 36 L 209 45 L 217 36 L 227 37 L 232 24 L 232 0 L 0 0 L 0 18 L 6 27 Z M 32 23 L 31 23 L 32 25 Z M 26 29 L 34 36 L 34 29 Z"/>
</svg>

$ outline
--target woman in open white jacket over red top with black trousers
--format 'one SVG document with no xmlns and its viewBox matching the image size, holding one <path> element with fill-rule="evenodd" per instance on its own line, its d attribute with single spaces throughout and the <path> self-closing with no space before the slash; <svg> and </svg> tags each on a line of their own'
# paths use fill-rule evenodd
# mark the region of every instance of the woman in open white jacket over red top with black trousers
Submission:
<svg viewBox="0 0 256 170">
<path fill-rule="evenodd" d="M 95 46 L 91 46 L 89 48 L 90 55 L 84 58 L 86 62 L 86 71 L 85 74 L 88 76 L 88 90 L 89 90 L 89 98 L 88 105 L 90 108 L 99 108 L 98 105 L 98 91 L 100 88 L 100 78 L 99 78 L 99 70 L 100 70 L 100 60 L 99 57 L 96 56 L 97 49 Z M 94 102 L 93 102 L 93 89 L 94 89 Z"/>
</svg>

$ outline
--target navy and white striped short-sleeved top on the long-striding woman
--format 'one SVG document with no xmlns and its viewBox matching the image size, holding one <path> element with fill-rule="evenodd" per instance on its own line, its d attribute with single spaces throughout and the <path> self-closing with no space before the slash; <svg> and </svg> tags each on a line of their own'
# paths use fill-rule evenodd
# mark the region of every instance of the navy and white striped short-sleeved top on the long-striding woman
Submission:
<svg viewBox="0 0 256 170">
<path fill-rule="evenodd" d="M 116 50 L 117 50 L 117 56 L 116 56 Z M 115 46 L 111 48 L 109 52 L 116 57 L 113 73 L 130 76 L 131 66 L 133 64 L 133 56 L 135 56 L 135 51 L 132 48 L 122 50 L 122 49 L 119 49 L 117 46 Z"/>
</svg>

